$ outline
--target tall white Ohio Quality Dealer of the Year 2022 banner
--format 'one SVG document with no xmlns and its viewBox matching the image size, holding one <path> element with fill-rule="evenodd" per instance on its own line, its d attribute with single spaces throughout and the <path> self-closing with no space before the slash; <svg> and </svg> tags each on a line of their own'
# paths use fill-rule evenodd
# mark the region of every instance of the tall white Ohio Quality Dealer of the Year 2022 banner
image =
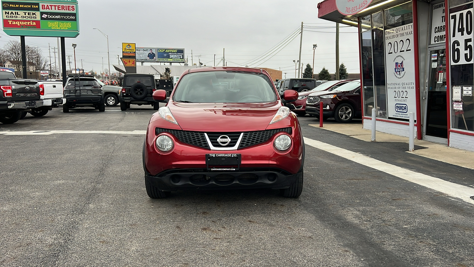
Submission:
<svg viewBox="0 0 474 267">
<path fill-rule="evenodd" d="M 385 30 L 388 117 L 416 118 L 413 23 Z"/>
</svg>

